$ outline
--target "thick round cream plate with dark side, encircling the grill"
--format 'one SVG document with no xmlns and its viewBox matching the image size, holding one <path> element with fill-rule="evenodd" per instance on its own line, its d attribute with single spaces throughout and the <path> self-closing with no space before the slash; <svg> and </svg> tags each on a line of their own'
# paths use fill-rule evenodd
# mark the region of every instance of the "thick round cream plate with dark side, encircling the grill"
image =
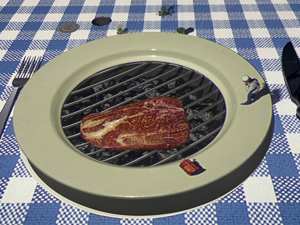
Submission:
<svg viewBox="0 0 300 225">
<path fill-rule="evenodd" d="M 78 84 L 122 63 L 153 60 L 202 73 L 223 95 L 222 129 L 210 144 L 189 156 L 205 169 L 203 173 L 190 176 L 181 162 L 150 168 L 101 163 L 76 149 L 63 133 L 61 109 Z M 241 80 L 245 74 L 261 87 L 259 98 L 250 105 L 241 105 L 247 99 Z M 103 212 L 155 215 L 197 207 L 241 184 L 267 152 L 272 115 L 267 84 L 237 53 L 189 35 L 140 32 L 97 39 L 50 60 L 22 89 L 13 126 L 34 171 L 59 194 Z"/>
</svg>

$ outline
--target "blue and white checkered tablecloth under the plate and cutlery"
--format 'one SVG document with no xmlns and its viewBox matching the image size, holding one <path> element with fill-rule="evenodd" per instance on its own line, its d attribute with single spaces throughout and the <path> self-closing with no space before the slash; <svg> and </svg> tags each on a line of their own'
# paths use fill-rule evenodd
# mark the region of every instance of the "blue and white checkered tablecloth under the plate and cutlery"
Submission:
<svg viewBox="0 0 300 225">
<path fill-rule="evenodd" d="M 156 15 L 162 5 L 171 14 Z M 103 27 L 98 16 L 112 18 Z M 40 186 L 27 171 L 10 117 L 0 141 L 1 224 L 300 224 L 300 121 L 294 116 L 281 71 L 281 53 L 292 41 L 300 53 L 299 0 L 1 0 L 0 110 L 24 55 L 47 63 L 79 44 L 127 32 L 176 32 L 222 44 L 262 74 L 274 101 L 272 143 L 260 166 L 233 192 L 204 207 L 169 217 L 113 218 L 68 205 Z M 76 22 L 73 33 L 60 33 Z M 12 116 L 12 115 L 11 115 Z M 196 197 L 196 196 L 195 196 Z"/>
</svg>

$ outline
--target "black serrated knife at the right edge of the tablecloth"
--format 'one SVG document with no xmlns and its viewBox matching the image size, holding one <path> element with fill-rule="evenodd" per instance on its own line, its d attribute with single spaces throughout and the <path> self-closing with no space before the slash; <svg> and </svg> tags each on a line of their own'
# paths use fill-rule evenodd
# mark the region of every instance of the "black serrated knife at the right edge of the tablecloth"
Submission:
<svg viewBox="0 0 300 225">
<path fill-rule="evenodd" d="M 282 72 L 291 100 L 297 105 L 296 116 L 300 119 L 300 61 L 292 42 L 288 42 L 283 48 Z"/>
</svg>

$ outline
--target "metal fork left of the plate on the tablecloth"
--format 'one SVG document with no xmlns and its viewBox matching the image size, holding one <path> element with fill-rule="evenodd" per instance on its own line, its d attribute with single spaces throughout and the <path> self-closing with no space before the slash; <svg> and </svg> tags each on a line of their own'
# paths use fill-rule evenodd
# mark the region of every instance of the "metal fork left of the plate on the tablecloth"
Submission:
<svg viewBox="0 0 300 225">
<path fill-rule="evenodd" d="M 26 57 L 23 59 L 22 64 L 16 74 L 16 77 L 12 81 L 13 91 L 5 103 L 0 113 L 0 138 L 5 128 L 5 124 L 8 120 L 8 116 L 11 112 L 12 106 L 15 103 L 19 90 L 27 83 L 29 78 L 38 70 L 42 63 L 42 57 Z"/>
</svg>

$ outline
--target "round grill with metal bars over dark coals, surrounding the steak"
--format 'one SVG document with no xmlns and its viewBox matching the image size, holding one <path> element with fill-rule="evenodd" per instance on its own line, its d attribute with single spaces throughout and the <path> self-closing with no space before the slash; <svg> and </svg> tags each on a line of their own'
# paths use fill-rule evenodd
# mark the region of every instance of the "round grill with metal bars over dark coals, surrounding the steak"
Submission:
<svg viewBox="0 0 300 225">
<path fill-rule="evenodd" d="M 155 96 L 182 100 L 191 128 L 188 143 L 170 150 L 110 151 L 81 137 L 85 116 Z M 73 146 L 91 158 L 123 167 L 153 167 L 199 152 L 217 136 L 225 114 L 222 93 L 201 73 L 171 63 L 135 62 L 108 68 L 81 82 L 64 102 L 61 125 Z"/>
</svg>

